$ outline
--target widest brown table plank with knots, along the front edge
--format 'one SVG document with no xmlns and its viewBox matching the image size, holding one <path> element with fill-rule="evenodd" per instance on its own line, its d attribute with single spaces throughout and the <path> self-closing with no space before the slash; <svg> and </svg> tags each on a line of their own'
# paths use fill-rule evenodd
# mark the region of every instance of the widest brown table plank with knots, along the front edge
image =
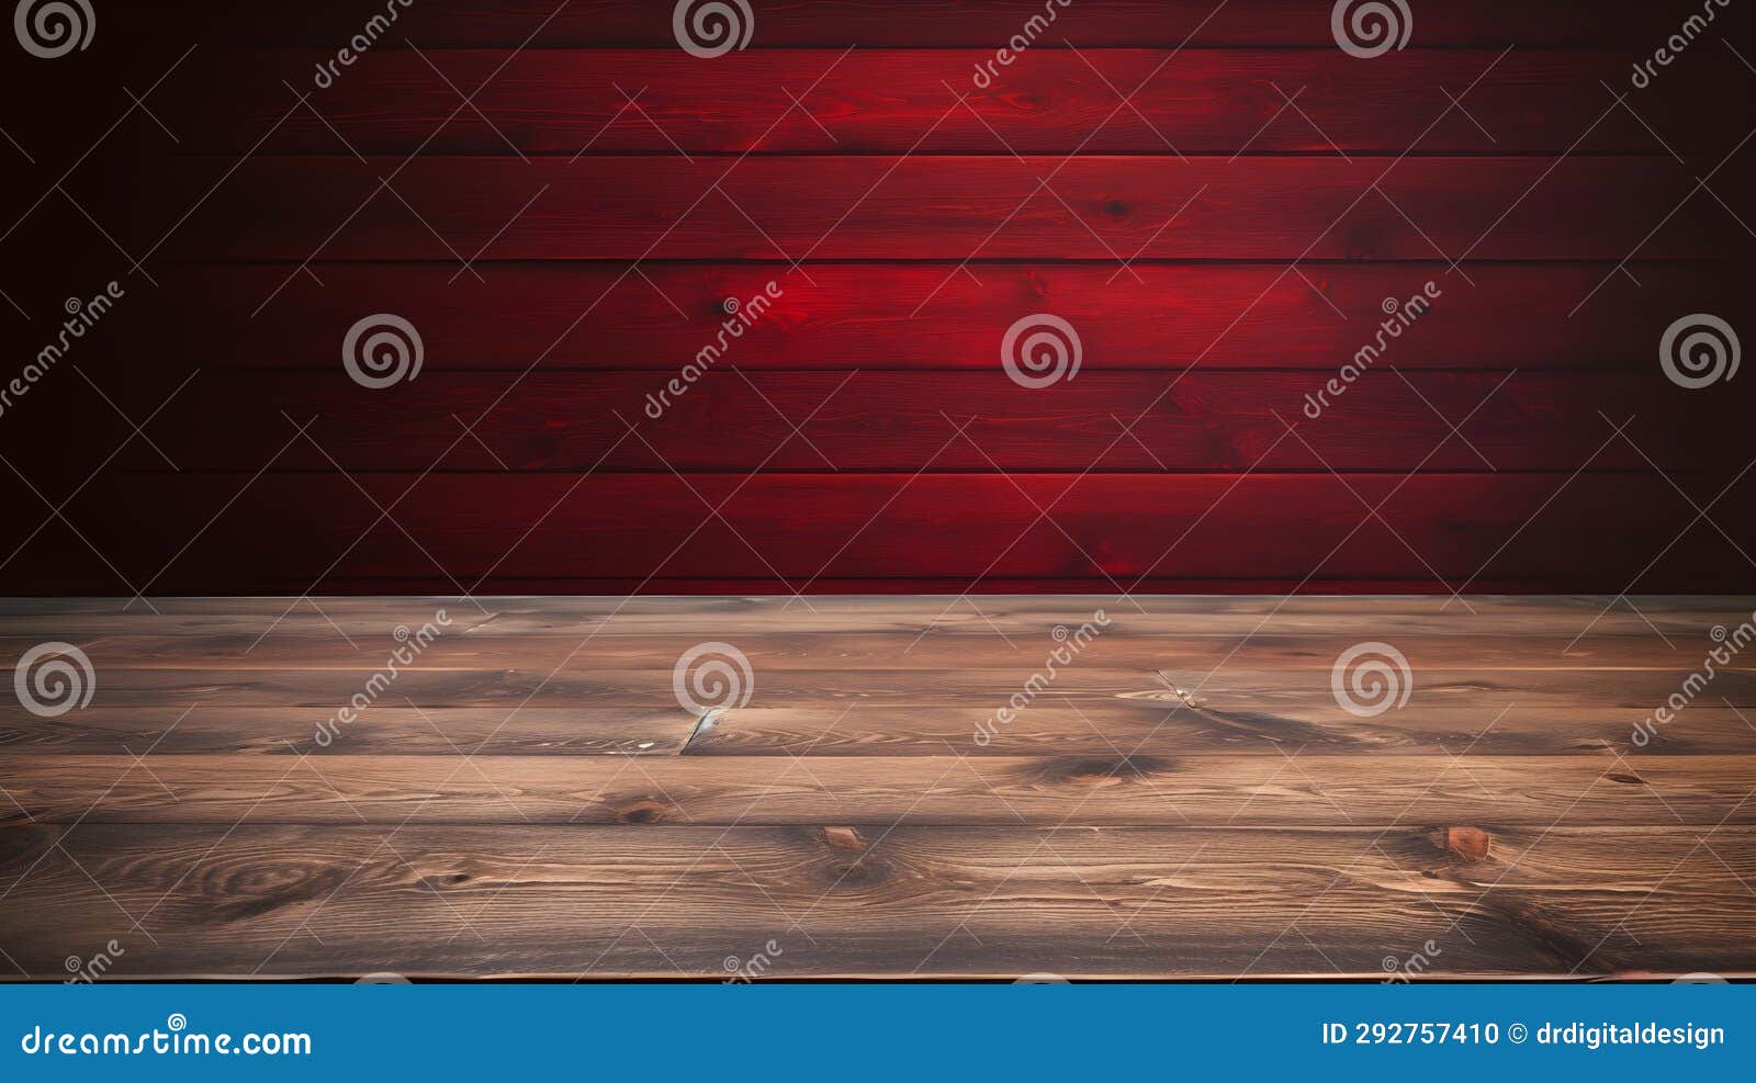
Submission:
<svg viewBox="0 0 1756 1083">
<path fill-rule="evenodd" d="M 44 978 L 111 937 L 116 978 L 723 978 L 769 941 L 776 978 L 1382 978 L 1429 941 L 1445 976 L 1756 974 L 1731 825 L 60 830 L 0 832 L 0 944 Z"/>
</svg>

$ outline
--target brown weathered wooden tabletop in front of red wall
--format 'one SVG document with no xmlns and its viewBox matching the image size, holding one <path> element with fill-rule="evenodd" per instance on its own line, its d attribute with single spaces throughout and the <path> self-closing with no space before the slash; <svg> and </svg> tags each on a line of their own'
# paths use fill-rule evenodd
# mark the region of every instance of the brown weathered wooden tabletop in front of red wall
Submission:
<svg viewBox="0 0 1756 1083">
<path fill-rule="evenodd" d="M 7 974 L 1756 972 L 1752 599 L 153 606 L 0 602 Z"/>
</svg>

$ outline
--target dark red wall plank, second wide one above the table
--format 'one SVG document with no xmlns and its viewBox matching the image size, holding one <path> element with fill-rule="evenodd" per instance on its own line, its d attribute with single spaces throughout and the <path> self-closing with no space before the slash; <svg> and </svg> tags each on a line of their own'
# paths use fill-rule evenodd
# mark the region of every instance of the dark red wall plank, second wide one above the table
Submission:
<svg viewBox="0 0 1756 1083">
<path fill-rule="evenodd" d="M 1108 372 L 1089 355 L 1075 379 L 1048 390 L 1013 384 L 997 353 L 987 372 L 730 365 L 674 397 L 664 372 L 537 370 L 515 383 L 513 374 L 428 369 L 385 395 L 344 393 L 339 362 L 299 374 L 216 372 L 158 416 L 156 448 L 130 442 L 116 465 L 162 469 L 160 453 L 183 469 L 262 463 L 286 442 L 286 416 L 316 416 L 318 446 L 299 441 L 276 470 L 1328 472 L 1421 463 L 1428 472 L 1570 472 L 1589 460 L 1594 470 L 1645 472 L 1712 462 L 1756 409 L 1756 383 L 1703 398 L 1656 363 L 1630 374 L 1385 365 L 1333 400 L 1322 372 Z M 158 377 L 130 383 L 109 393 L 146 411 L 163 397 Z M 639 437 L 618 414 L 639 425 Z M 1610 418 L 1635 418 L 1628 439 L 1610 439 Z M 460 439 L 460 420 L 476 439 Z"/>
</svg>

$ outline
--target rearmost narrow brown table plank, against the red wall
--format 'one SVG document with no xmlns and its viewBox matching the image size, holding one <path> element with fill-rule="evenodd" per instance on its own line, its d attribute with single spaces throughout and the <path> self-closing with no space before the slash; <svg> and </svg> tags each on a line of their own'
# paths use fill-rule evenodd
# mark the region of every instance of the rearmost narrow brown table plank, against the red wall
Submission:
<svg viewBox="0 0 1756 1083">
<path fill-rule="evenodd" d="M 818 595 L 794 597 L 163 597 L 151 609 L 119 599 L 0 599 L 0 630 L 28 639 L 44 628 L 63 637 L 176 635 L 198 644 L 209 635 L 318 637 L 390 635 L 397 625 L 420 627 L 446 609 L 448 634 L 474 639 L 499 635 L 557 635 L 574 641 L 592 635 L 664 635 L 701 632 L 709 637 L 762 635 L 780 628 L 794 634 L 859 635 L 904 632 L 948 635 L 961 632 L 1048 635 L 1055 625 L 1090 620 L 1106 609 L 1119 628 L 1162 637 L 1222 635 L 1401 635 L 1529 637 L 1575 641 L 1593 632 L 1610 641 L 1707 635 L 1714 625 L 1737 627 L 1751 620 L 1752 604 L 1740 597 L 1642 595 L 1638 606 L 1603 597 L 1493 597 L 1470 595 L 1468 621 L 1450 621 L 1463 604 L 1442 597 L 1157 597 L 1133 600 L 1115 595 Z M 330 646 L 335 646 L 332 642 Z M 1665 644 L 1647 641 L 1661 658 Z M 1482 649 L 1482 648 L 1475 648 Z M 1487 648 L 1493 649 L 1493 648 Z M 1572 649 L 1593 651 L 1579 639 Z M 1682 648 L 1672 648 L 1670 653 Z"/>
</svg>

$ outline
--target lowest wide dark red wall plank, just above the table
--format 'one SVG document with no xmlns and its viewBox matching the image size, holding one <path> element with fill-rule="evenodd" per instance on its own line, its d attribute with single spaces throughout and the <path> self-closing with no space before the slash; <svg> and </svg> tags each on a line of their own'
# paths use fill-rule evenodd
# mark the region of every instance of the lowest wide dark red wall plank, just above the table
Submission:
<svg viewBox="0 0 1756 1083">
<path fill-rule="evenodd" d="M 125 555 L 119 574 L 160 593 L 220 583 L 321 590 L 328 576 L 448 576 L 462 592 L 483 579 L 581 574 L 738 574 L 794 588 L 813 577 L 968 576 L 954 592 L 1031 576 L 1120 592 L 1154 574 L 1735 590 L 1749 577 L 1738 548 L 1752 544 L 1756 504 L 1742 498 L 1749 476 L 1726 483 L 1654 474 L 167 472 L 100 477 L 65 514 L 100 553 Z M 1714 525 L 1700 521 L 1696 506 L 1719 493 Z M 1127 532 L 1113 530 L 1117 509 L 1129 511 Z M 37 521 L 18 520 L 5 537 L 21 567 L 46 577 L 83 567 L 86 542 L 60 521 L 30 535 Z"/>
</svg>

